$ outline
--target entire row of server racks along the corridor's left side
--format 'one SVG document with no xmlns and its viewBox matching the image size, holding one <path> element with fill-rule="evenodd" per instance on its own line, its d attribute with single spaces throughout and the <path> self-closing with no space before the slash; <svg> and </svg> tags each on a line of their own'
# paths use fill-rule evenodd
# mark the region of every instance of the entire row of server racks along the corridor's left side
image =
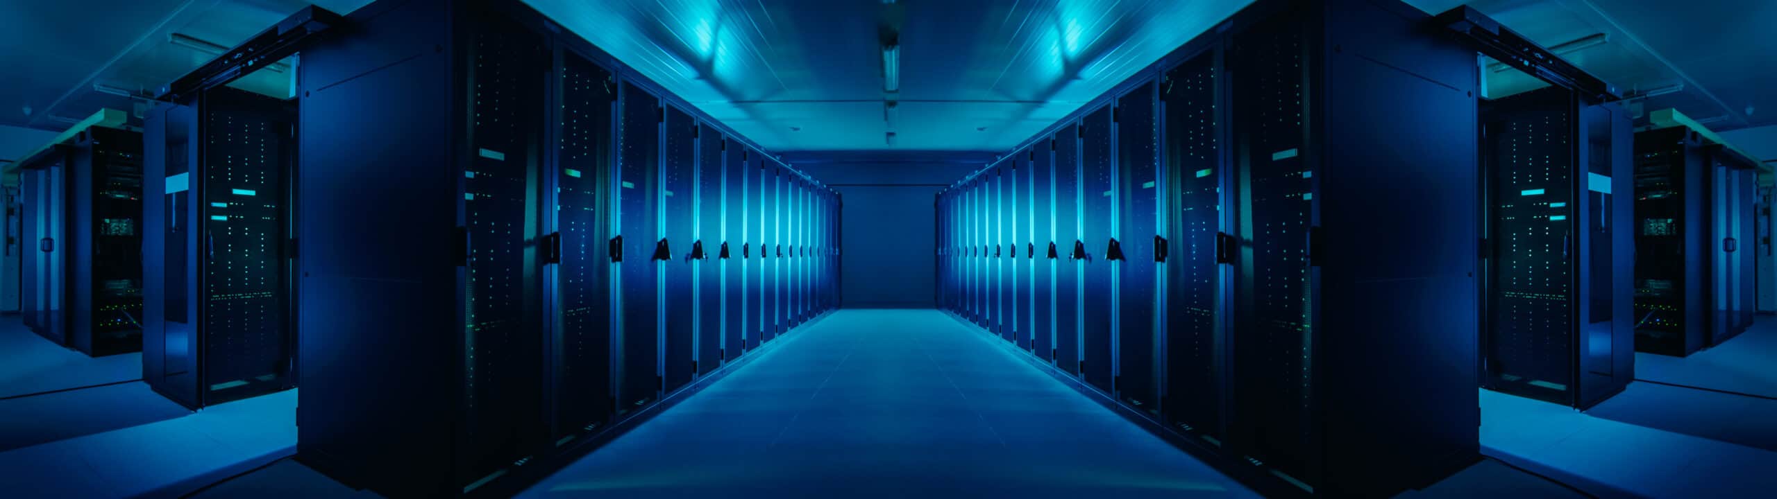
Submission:
<svg viewBox="0 0 1777 499">
<path fill-rule="evenodd" d="M 837 305 L 837 192 L 530 7 L 350 18 L 299 69 L 299 460 L 510 492 Z"/>
</svg>

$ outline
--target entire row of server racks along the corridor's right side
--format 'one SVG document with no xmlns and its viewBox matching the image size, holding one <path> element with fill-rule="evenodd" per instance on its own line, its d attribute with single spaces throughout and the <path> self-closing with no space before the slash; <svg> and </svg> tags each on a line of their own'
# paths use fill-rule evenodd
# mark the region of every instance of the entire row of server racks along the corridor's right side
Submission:
<svg viewBox="0 0 1777 499">
<path fill-rule="evenodd" d="M 1242 9 L 942 190 L 942 309 L 1262 488 L 1466 465 L 1477 67 L 1425 23 Z"/>
</svg>

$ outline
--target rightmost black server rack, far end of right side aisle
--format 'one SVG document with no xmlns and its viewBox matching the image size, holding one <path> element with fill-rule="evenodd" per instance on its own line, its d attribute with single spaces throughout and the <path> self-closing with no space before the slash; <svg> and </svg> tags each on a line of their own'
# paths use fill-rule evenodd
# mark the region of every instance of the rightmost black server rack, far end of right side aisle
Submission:
<svg viewBox="0 0 1777 499">
<path fill-rule="evenodd" d="M 1635 133 L 1635 350 L 1690 355 L 1750 325 L 1754 167 L 1685 126 Z"/>
</svg>

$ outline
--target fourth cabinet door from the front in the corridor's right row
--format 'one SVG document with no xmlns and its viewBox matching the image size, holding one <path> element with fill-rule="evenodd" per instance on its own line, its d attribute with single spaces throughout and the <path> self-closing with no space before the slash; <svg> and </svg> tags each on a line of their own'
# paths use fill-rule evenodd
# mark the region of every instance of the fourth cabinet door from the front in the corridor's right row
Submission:
<svg viewBox="0 0 1777 499">
<path fill-rule="evenodd" d="M 1112 108 L 1080 119 L 1080 376 L 1114 392 L 1116 272 L 1121 256 L 1116 213 L 1116 130 Z"/>
</svg>

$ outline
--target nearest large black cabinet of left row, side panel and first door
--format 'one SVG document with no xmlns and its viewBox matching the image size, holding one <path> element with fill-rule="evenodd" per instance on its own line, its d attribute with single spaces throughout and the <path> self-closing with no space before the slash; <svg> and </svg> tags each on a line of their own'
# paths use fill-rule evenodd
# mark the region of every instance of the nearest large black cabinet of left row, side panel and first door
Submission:
<svg viewBox="0 0 1777 499">
<path fill-rule="evenodd" d="M 297 453 L 384 495 L 467 494 L 551 444 L 551 57 L 474 5 L 368 5 L 299 69 Z"/>
</svg>

